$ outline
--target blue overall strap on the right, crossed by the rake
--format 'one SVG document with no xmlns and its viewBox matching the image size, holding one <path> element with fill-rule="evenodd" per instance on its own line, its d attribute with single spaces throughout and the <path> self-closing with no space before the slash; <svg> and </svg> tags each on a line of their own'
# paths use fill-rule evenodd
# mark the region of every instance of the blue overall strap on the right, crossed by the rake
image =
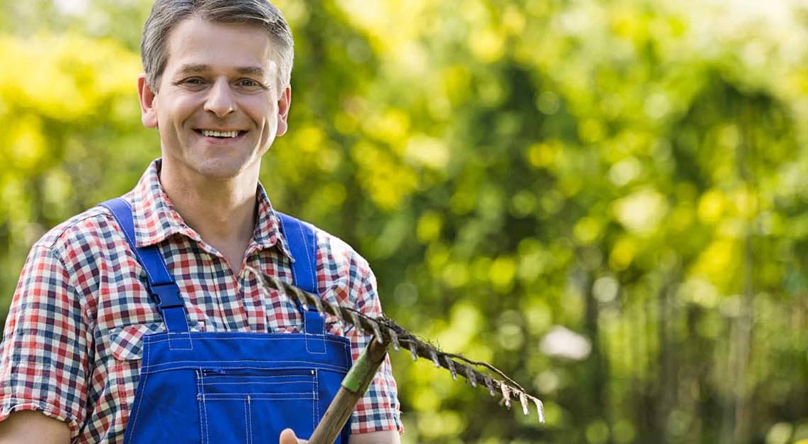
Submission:
<svg viewBox="0 0 808 444">
<path fill-rule="evenodd" d="M 292 279 L 303 291 L 319 295 L 317 288 L 317 236 L 314 227 L 302 220 L 282 212 L 275 212 L 280 220 L 280 231 L 284 233 L 289 252 L 292 253 Z M 303 310 L 300 301 L 295 299 L 297 309 L 304 315 L 305 333 L 323 334 L 325 320 L 315 308 Z M 323 345 L 324 346 L 324 345 Z M 307 341 L 309 351 L 317 353 L 320 344 Z"/>
</svg>

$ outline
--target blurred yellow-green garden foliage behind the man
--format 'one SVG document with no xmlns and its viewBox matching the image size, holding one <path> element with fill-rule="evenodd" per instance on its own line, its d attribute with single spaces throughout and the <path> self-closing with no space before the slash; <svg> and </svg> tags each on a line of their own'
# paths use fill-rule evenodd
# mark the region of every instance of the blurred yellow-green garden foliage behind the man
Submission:
<svg viewBox="0 0 808 444">
<path fill-rule="evenodd" d="M 276 207 L 368 258 L 385 312 L 545 401 L 394 354 L 406 443 L 808 441 L 808 6 L 279 0 Z M 0 0 L 0 312 L 30 245 L 159 146 L 149 2 Z"/>
</svg>

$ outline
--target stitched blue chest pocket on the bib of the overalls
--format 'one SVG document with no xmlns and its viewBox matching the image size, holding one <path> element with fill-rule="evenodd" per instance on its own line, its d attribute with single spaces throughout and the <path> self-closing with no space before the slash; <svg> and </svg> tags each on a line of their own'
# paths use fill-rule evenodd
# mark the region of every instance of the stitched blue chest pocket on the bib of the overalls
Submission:
<svg viewBox="0 0 808 444">
<path fill-rule="evenodd" d="M 202 369 L 197 400 L 203 444 L 277 442 L 283 429 L 309 437 L 318 417 L 314 369 Z"/>
</svg>

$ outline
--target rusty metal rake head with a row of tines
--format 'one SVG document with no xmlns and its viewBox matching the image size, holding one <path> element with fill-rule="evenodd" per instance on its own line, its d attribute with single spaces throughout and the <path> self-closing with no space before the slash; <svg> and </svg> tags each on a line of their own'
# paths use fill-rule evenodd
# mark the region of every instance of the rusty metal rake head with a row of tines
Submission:
<svg viewBox="0 0 808 444">
<path fill-rule="evenodd" d="M 539 422 L 545 421 L 544 404 L 541 403 L 541 400 L 535 396 L 529 395 L 522 386 L 513 379 L 508 378 L 507 375 L 499 371 L 496 367 L 486 362 L 472 361 L 460 354 L 444 353 L 436 346 L 419 339 L 419 337 L 416 337 L 414 334 L 396 324 L 393 320 L 384 316 L 375 318 L 365 316 L 352 308 L 324 301 L 317 295 L 312 295 L 289 283 L 284 283 L 280 279 L 260 273 L 252 267 L 247 267 L 247 270 L 255 274 L 265 287 L 283 291 L 287 295 L 293 295 L 301 304 L 305 304 L 309 307 L 314 306 L 318 312 L 336 316 L 338 320 L 354 325 L 360 332 L 373 333 L 377 341 L 380 343 L 389 341 L 396 351 L 400 350 L 402 347 L 410 350 L 414 361 L 419 357 L 427 358 L 431 362 L 434 362 L 436 367 L 443 367 L 448 370 L 452 375 L 452 379 L 457 379 L 457 376 L 462 376 L 469 381 L 472 387 L 477 387 L 478 385 L 486 387 L 491 396 L 497 396 L 499 393 L 502 396 L 500 404 L 504 404 L 507 408 L 511 408 L 511 399 L 513 399 L 522 405 L 522 412 L 528 415 L 528 404 L 534 404 L 537 409 Z M 499 376 L 500 379 L 482 373 L 474 367 L 484 367 L 487 371 Z"/>
</svg>

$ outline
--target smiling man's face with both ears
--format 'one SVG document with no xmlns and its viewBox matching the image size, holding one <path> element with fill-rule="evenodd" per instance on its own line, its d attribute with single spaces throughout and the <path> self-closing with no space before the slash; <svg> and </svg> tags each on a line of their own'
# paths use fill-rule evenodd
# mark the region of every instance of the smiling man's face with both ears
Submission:
<svg viewBox="0 0 808 444">
<path fill-rule="evenodd" d="M 158 92 L 141 76 L 143 124 L 158 128 L 163 170 L 180 180 L 250 171 L 286 132 L 291 90 L 278 90 L 267 31 L 186 19 L 169 34 Z"/>
</svg>

